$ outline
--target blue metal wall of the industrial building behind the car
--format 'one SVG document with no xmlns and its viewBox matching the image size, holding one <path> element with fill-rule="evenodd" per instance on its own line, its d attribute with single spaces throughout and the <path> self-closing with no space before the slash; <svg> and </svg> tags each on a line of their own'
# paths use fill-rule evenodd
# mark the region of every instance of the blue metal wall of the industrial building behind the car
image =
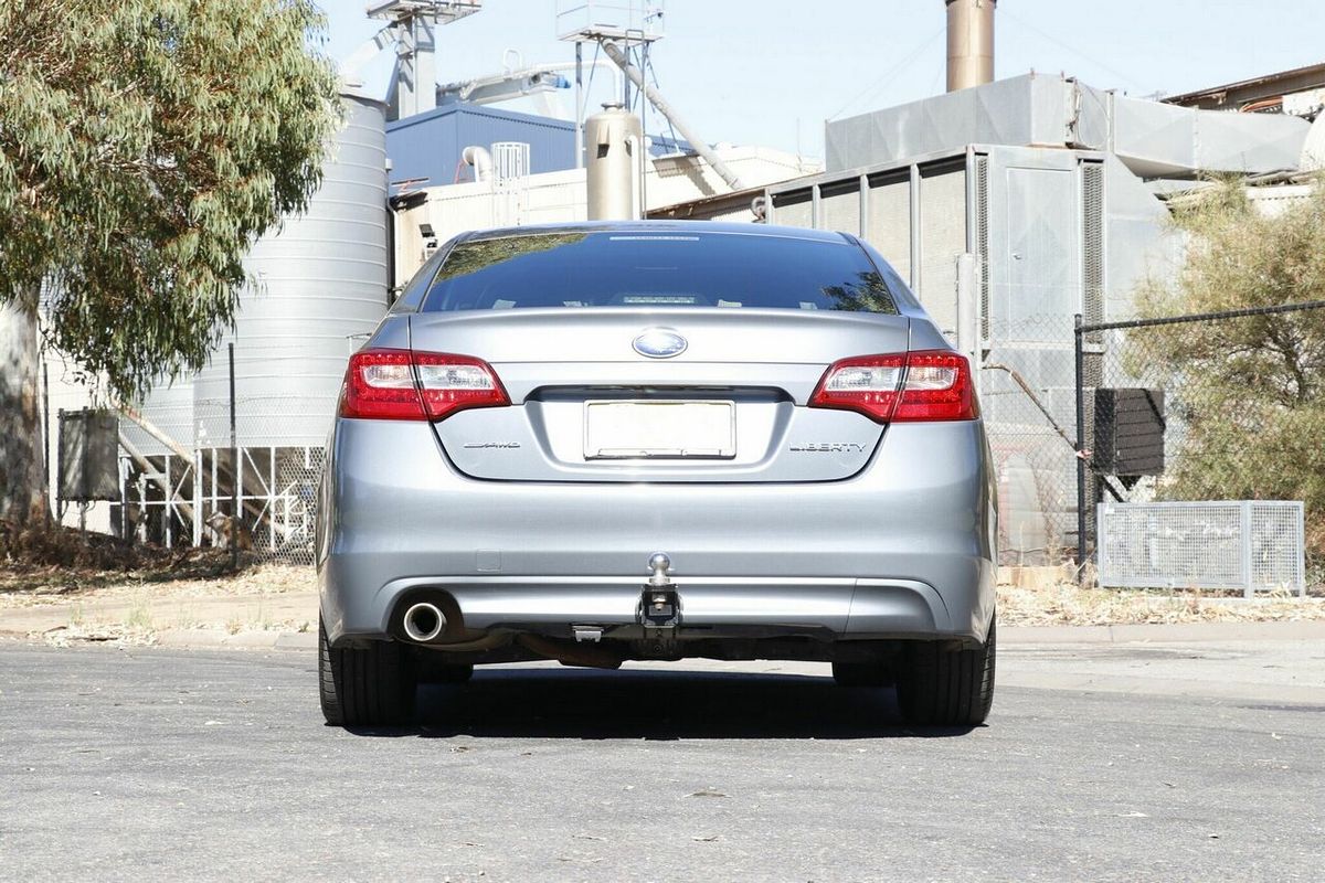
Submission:
<svg viewBox="0 0 1325 883">
<path fill-rule="evenodd" d="M 461 151 L 470 144 L 492 147 L 494 142 L 529 144 L 530 172 L 535 175 L 575 168 L 574 123 L 457 103 L 387 123 L 391 180 L 427 177 L 421 187 L 472 181 L 474 171 L 461 164 Z"/>
</svg>

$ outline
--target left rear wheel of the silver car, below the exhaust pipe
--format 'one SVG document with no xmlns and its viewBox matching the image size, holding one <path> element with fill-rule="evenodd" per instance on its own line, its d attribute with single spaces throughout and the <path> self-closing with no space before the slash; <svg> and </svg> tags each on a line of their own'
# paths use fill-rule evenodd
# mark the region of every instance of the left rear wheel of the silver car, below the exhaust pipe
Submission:
<svg viewBox="0 0 1325 883">
<path fill-rule="evenodd" d="M 318 617 L 318 675 L 322 715 L 337 727 L 400 724 L 413 714 L 419 678 L 413 661 L 394 641 L 367 647 L 333 647 Z"/>
</svg>

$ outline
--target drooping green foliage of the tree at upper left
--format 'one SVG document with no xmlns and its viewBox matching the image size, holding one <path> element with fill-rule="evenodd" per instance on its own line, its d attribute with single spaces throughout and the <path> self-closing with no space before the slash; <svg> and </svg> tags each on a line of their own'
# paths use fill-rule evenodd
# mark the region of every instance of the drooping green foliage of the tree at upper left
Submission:
<svg viewBox="0 0 1325 883">
<path fill-rule="evenodd" d="M 196 369 L 338 123 L 309 0 L 0 3 L 0 302 L 114 395 Z"/>
</svg>

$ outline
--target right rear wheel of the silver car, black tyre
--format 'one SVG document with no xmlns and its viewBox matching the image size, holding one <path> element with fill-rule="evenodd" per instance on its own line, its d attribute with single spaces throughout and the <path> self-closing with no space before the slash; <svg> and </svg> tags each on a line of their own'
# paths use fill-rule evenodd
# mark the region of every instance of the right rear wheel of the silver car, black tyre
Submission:
<svg viewBox="0 0 1325 883">
<path fill-rule="evenodd" d="M 941 643 L 912 646 L 897 676 L 897 704 L 916 724 L 974 727 L 994 704 L 994 622 L 983 647 L 945 650 Z"/>
</svg>

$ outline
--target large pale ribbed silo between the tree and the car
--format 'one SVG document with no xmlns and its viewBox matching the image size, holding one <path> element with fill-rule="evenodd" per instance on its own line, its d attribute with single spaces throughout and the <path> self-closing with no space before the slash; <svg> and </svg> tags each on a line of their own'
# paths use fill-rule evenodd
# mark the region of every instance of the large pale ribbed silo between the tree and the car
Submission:
<svg viewBox="0 0 1325 883">
<path fill-rule="evenodd" d="M 322 187 L 305 214 L 245 258 L 253 282 L 235 331 L 197 375 L 201 447 L 229 445 L 229 342 L 238 445 L 323 445 L 346 360 L 387 310 L 386 106 L 356 93 L 342 99 L 346 123 Z"/>
</svg>

